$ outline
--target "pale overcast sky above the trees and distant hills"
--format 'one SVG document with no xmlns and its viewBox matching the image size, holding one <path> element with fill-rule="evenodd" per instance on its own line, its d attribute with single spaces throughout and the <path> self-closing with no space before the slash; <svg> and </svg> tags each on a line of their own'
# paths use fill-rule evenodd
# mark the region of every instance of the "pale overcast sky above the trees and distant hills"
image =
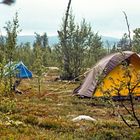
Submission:
<svg viewBox="0 0 140 140">
<path fill-rule="evenodd" d="M 20 35 L 47 33 L 57 35 L 68 0 L 16 0 L 12 6 L 0 5 L 0 31 L 7 21 L 12 21 L 16 12 Z M 131 33 L 140 27 L 140 0 L 72 0 L 71 8 L 76 24 L 84 18 L 92 30 L 102 36 L 121 38 L 127 33 L 123 11 L 126 12 Z"/>
</svg>

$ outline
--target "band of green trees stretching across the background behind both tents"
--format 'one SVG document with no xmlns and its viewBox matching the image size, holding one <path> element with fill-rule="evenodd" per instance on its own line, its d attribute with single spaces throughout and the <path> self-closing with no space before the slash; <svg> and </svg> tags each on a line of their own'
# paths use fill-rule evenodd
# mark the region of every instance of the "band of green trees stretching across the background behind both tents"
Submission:
<svg viewBox="0 0 140 140">
<path fill-rule="evenodd" d="M 44 68 L 57 66 L 61 70 L 61 78 L 72 80 L 86 68 L 92 67 L 105 55 L 120 50 L 130 50 L 129 38 L 124 34 L 114 45 L 104 46 L 101 36 L 95 33 L 85 19 L 80 24 L 70 12 L 67 25 L 67 38 L 64 47 L 64 20 L 58 30 L 59 43 L 49 46 L 47 33 L 35 33 L 33 46 L 30 43 L 17 45 L 20 26 L 18 14 L 5 25 L 6 36 L 0 37 L 1 66 L 9 61 L 23 61 L 35 74 L 42 74 Z M 131 50 L 140 52 L 140 28 L 134 30 Z"/>
</svg>

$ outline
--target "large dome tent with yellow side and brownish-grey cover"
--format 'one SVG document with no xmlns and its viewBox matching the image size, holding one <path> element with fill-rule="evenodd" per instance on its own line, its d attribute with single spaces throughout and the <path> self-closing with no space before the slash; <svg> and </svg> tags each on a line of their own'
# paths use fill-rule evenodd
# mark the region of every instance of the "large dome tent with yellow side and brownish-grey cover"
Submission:
<svg viewBox="0 0 140 140">
<path fill-rule="evenodd" d="M 124 64 L 127 64 L 131 76 L 127 76 Z M 113 97 L 127 96 L 128 89 L 125 87 L 130 81 L 131 87 L 140 80 L 140 57 L 131 51 L 110 54 L 101 59 L 88 73 L 84 82 L 74 90 L 74 93 L 84 97 L 102 97 L 109 93 Z M 131 79 L 130 79 L 131 78 Z M 139 85 L 133 93 L 140 96 Z M 117 94 L 117 90 L 120 92 Z"/>
</svg>

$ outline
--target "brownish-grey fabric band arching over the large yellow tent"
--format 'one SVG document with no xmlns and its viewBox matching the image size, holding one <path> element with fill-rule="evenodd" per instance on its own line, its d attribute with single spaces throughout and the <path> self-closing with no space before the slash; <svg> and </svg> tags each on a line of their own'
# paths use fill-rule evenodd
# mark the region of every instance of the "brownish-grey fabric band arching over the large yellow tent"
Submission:
<svg viewBox="0 0 140 140">
<path fill-rule="evenodd" d="M 104 79 L 115 67 L 131 57 L 138 59 L 140 66 L 140 57 L 131 51 L 118 52 L 110 54 L 101 59 L 88 73 L 83 84 L 76 90 L 76 94 L 85 97 L 92 97 L 98 88 L 101 79 Z"/>
</svg>

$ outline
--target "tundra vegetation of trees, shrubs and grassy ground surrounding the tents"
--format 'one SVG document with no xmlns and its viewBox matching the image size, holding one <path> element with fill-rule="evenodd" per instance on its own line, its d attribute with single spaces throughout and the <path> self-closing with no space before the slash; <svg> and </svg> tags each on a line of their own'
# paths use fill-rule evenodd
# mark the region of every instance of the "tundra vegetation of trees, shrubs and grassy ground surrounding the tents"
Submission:
<svg viewBox="0 0 140 140">
<path fill-rule="evenodd" d="M 6 2 L 8 1 L 3 3 L 7 4 Z M 81 75 L 87 68 L 109 53 L 130 49 L 129 34 L 125 33 L 118 43 L 106 48 L 101 36 L 93 31 L 86 19 L 80 24 L 75 23 L 69 8 L 70 3 L 66 17 L 62 19 L 62 26 L 58 29 L 59 43 L 54 46 L 49 46 L 47 33 L 35 33 L 33 46 L 29 42 L 19 45 L 18 14 L 6 23 L 4 28 L 7 34 L 0 37 L 0 138 L 140 139 L 140 103 L 132 96 L 129 69 L 125 69 L 124 76 L 128 78 L 126 87 L 130 89 L 130 101 L 114 103 L 112 99 L 105 101 L 72 96 L 73 89 L 83 79 Z M 131 50 L 140 53 L 140 28 L 133 33 Z M 11 61 L 20 60 L 33 72 L 34 77 L 22 80 L 19 89 L 23 94 L 19 95 L 11 90 L 15 78 L 12 74 L 5 77 L 4 66 Z M 52 66 L 59 70 L 47 69 Z M 55 81 L 59 75 L 62 81 Z M 137 80 L 138 83 L 139 81 L 140 79 Z M 120 87 L 116 90 L 119 89 Z M 79 115 L 88 115 L 96 121 L 73 122 L 72 119 Z"/>
</svg>

